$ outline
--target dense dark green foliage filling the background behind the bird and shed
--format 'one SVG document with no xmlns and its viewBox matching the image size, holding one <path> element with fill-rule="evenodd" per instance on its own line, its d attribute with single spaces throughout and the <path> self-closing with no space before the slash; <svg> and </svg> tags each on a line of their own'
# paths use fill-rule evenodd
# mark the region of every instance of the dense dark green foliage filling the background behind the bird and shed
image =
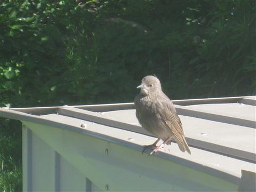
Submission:
<svg viewBox="0 0 256 192">
<path fill-rule="evenodd" d="M 1 106 L 132 102 L 148 74 L 172 99 L 255 94 L 255 1 L 78 3 L 0 2 Z M 2 122 L 0 189 L 17 191 L 20 125 Z"/>
</svg>

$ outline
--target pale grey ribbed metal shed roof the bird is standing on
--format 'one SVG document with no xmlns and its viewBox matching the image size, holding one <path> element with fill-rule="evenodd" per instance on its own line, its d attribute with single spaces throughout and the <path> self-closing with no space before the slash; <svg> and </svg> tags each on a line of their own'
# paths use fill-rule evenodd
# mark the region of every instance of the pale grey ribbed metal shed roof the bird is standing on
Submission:
<svg viewBox="0 0 256 192">
<path fill-rule="evenodd" d="M 191 155 L 176 143 L 155 156 L 233 183 L 255 172 L 256 97 L 175 100 Z M 0 116 L 92 135 L 141 151 L 155 141 L 139 125 L 133 103 L 0 109 Z"/>
</svg>

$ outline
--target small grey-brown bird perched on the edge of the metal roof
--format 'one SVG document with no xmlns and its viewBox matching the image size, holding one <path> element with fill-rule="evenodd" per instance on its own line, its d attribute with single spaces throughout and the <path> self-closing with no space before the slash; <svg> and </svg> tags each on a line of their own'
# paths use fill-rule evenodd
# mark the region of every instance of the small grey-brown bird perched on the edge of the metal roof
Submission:
<svg viewBox="0 0 256 192">
<path fill-rule="evenodd" d="M 141 85 L 137 86 L 140 93 L 134 98 L 136 117 L 140 125 L 157 140 L 144 146 L 143 152 L 150 148 L 150 155 L 155 154 L 163 146 L 170 145 L 174 139 L 182 152 L 191 154 L 182 128 L 182 123 L 175 110 L 173 102 L 164 94 L 159 79 L 148 75 L 142 78 Z M 163 143 L 157 147 L 159 140 Z"/>
</svg>

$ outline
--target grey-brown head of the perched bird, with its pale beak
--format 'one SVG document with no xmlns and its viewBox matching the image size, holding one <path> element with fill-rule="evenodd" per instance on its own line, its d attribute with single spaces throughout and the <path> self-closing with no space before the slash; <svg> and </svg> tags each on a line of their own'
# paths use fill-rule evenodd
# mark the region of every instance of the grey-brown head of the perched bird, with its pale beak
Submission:
<svg viewBox="0 0 256 192">
<path fill-rule="evenodd" d="M 155 94 L 159 90 L 162 90 L 161 83 L 157 77 L 148 75 L 141 80 L 141 84 L 137 86 L 140 92 L 144 95 Z"/>
</svg>

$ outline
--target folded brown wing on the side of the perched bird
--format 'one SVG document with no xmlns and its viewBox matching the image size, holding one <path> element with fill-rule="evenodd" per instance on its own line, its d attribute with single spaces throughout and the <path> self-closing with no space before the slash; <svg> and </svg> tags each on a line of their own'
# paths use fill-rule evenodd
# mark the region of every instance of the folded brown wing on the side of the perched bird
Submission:
<svg viewBox="0 0 256 192">
<path fill-rule="evenodd" d="M 177 115 L 176 110 L 170 100 L 164 100 L 163 106 L 165 110 L 162 110 L 160 116 L 164 123 L 170 128 L 176 140 L 183 143 L 184 132 L 180 117 Z"/>
</svg>

